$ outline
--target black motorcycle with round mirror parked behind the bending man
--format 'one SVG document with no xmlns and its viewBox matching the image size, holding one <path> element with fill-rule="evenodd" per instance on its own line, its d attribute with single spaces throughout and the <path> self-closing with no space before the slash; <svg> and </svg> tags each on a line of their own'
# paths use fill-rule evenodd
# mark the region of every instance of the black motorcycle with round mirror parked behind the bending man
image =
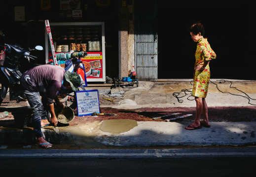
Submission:
<svg viewBox="0 0 256 177">
<path fill-rule="evenodd" d="M 4 34 L 0 31 L 0 36 L 4 38 Z M 10 101 L 20 100 L 22 97 L 22 89 L 20 85 L 20 72 L 18 65 L 19 59 L 24 57 L 25 59 L 37 59 L 37 57 L 30 55 L 33 50 L 43 50 L 42 46 L 36 46 L 35 49 L 26 50 L 21 46 L 14 44 L 0 45 L 3 49 L 0 50 L 0 104 L 6 97 L 9 88 Z"/>
</svg>

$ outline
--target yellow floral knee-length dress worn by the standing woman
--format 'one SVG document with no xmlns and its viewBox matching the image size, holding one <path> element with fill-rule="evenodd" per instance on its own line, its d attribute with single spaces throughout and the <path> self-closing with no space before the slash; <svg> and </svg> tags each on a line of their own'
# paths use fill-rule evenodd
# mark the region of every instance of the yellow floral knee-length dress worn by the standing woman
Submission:
<svg viewBox="0 0 256 177">
<path fill-rule="evenodd" d="M 210 81 L 210 67 L 209 63 L 205 69 L 195 71 L 198 64 L 203 65 L 204 60 L 216 59 L 216 54 L 212 50 L 207 39 L 201 38 L 198 40 L 196 52 L 195 52 L 195 66 L 194 66 L 194 84 L 192 89 L 192 96 L 205 98 L 208 92 L 208 85 Z"/>
</svg>

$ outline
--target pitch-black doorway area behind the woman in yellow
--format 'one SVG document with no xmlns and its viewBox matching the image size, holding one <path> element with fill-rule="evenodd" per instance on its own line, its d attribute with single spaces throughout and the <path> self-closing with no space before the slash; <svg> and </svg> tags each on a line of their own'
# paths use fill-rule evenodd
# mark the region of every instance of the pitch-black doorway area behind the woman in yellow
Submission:
<svg viewBox="0 0 256 177">
<path fill-rule="evenodd" d="M 217 54 L 211 78 L 256 79 L 255 10 L 249 0 L 158 1 L 158 78 L 192 78 L 196 42 L 187 30 L 205 26 Z"/>
</svg>

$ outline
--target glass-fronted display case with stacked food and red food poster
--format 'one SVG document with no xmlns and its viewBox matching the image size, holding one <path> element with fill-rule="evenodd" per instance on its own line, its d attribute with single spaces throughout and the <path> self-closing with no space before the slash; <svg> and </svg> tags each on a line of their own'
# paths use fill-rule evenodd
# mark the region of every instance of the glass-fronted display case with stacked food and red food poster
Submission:
<svg viewBox="0 0 256 177">
<path fill-rule="evenodd" d="M 87 52 L 78 58 L 84 65 L 87 82 L 106 81 L 104 22 L 49 23 L 58 65 L 64 67 L 67 53 Z M 45 56 L 52 56 L 49 38 L 45 30 Z M 68 55 L 67 55 L 68 56 Z"/>
</svg>

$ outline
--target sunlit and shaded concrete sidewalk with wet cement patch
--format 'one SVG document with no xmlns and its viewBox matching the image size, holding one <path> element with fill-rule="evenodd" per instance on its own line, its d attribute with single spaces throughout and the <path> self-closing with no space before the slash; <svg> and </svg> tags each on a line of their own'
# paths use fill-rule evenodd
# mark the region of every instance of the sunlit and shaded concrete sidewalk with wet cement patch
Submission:
<svg viewBox="0 0 256 177">
<path fill-rule="evenodd" d="M 54 147 L 255 146 L 256 100 L 253 99 L 256 98 L 256 82 L 227 81 L 212 80 L 209 84 L 206 100 L 210 128 L 184 129 L 195 118 L 195 101 L 189 97 L 192 86 L 190 80 L 170 80 L 139 82 L 138 88 L 98 89 L 101 113 L 116 116 L 75 116 L 70 124 L 58 126 L 57 131 L 53 126 L 47 126 L 42 132 Z M 215 84 L 222 92 L 230 93 L 220 92 Z M 181 97 L 180 102 L 174 92 Z M 28 109 L 29 105 L 26 101 L 4 100 L 0 112 L 14 107 Z M 152 119 L 172 113 L 192 116 L 172 122 Z M 31 127 L 17 127 L 12 115 L 0 119 L 0 145 L 21 143 L 34 148 Z"/>
</svg>

